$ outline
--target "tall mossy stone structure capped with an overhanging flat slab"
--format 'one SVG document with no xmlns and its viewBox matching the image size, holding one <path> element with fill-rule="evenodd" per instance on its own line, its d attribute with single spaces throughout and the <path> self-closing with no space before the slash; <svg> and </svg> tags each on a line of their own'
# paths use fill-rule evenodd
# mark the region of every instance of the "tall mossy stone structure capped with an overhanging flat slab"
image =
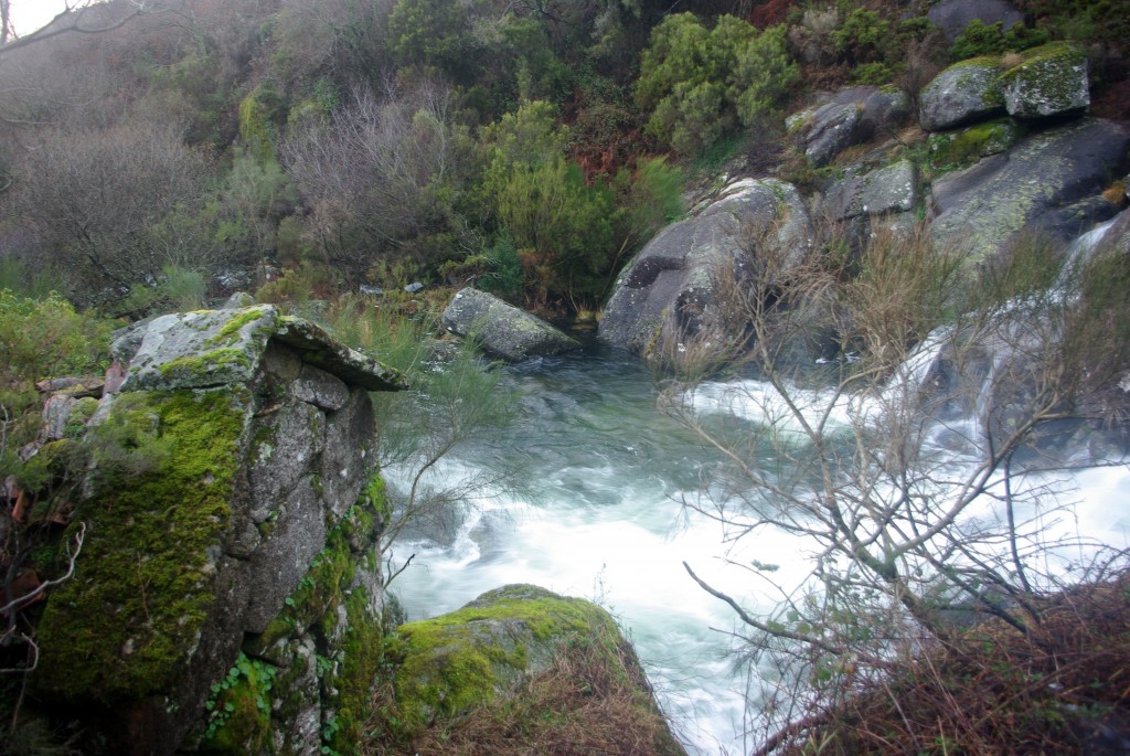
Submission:
<svg viewBox="0 0 1130 756">
<path fill-rule="evenodd" d="M 114 351 L 34 698 L 106 753 L 347 745 L 362 722 L 341 712 L 375 675 L 348 641 L 382 634 L 368 391 L 402 379 L 271 306 L 157 318 Z M 334 746 L 319 725 L 338 715 Z"/>
</svg>

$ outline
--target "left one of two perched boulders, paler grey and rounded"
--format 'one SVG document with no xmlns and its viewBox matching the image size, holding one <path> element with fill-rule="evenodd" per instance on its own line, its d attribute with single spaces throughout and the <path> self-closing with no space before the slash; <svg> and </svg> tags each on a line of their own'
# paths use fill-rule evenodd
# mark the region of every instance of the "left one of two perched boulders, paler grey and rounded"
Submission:
<svg viewBox="0 0 1130 756">
<path fill-rule="evenodd" d="M 999 75 L 997 58 L 974 58 L 950 66 L 922 88 L 919 123 L 927 131 L 941 131 L 1003 115 Z"/>
</svg>

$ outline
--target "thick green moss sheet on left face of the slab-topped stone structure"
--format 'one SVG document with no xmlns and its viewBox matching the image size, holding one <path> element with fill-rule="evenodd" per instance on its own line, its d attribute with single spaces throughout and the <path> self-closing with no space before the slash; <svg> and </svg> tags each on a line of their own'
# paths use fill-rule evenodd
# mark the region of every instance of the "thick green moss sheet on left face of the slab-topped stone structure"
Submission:
<svg viewBox="0 0 1130 756">
<path fill-rule="evenodd" d="M 86 544 L 38 628 L 42 690 L 110 704 L 167 692 L 185 674 L 215 600 L 246 399 L 227 389 L 114 402 L 108 422 L 151 433 L 169 453 L 136 477 L 104 476 L 76 511 Z"/>
</svg>

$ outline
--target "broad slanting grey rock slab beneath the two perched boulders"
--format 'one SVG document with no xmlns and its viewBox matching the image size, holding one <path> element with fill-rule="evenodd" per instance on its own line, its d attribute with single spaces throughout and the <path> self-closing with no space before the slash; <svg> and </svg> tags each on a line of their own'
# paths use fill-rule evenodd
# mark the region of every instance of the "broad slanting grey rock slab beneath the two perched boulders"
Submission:
<svg viewBox="0 0 1130 756">
<path fill-rule="evenodd" d="M 1084 120 L 1033 134 L 1011 150 L 935 182 L 930 233 L 937 244 L 964 245 L 974 260 L 1038 228 L 1068 242 L 1115 207 L 1093 201 L 1125 170 L 1130 130 Z"/>
</svg>

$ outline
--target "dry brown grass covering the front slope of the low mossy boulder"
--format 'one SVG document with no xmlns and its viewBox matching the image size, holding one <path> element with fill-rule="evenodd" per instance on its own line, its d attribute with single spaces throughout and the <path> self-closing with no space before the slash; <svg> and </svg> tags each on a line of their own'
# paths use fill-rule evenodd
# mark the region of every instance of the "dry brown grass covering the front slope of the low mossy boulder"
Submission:
<svg viewBox="0 0 1130 756">
<path fill-rule="evenodd" d="M 512 697 L 484 704 L 458 720 L 437 722 L 409 744 L 373 739 L 363 753 L 370 756 L 684 754 L 662 714 L 644 693 L 649 689 L 631 645 L 608 649 L 598 643 L 577 644 L 564 649 L 550 669 Z M 379 692 L 373 709 L 388 712 L 392 703 L 391 690 L 386 688 Z"/>
</svg>

